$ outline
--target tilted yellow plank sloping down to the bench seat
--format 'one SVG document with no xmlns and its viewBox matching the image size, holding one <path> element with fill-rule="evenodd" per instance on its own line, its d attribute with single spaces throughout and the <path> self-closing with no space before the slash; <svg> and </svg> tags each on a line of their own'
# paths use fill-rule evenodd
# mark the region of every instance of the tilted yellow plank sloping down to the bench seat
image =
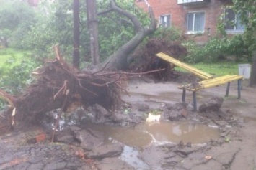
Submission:
<svg viewBox="0 0 256 170">
<path fill-rule="evenodd" d="M 180 62 L 179 60 L 175 59 L 174 57 L 171 57 L 169 55 L 164 54 L 163 52 L 159 52 L 156 54 L 157 57 L 161 58 L 162 60 L 165 60 L 167 62 L 171 62 L 174 65 L 177 65 L 178 67 L 182 67 L 185 70 L 192 72 L 195 75 L 198 75 L 198 77 L 201 77 L 203 80 L 208 80 L 213 78 L 213 75 L 208 74 L 207 72 L 203 72 L 201 70 L 198 70 L 195 67 L 192 67 L 191 65 L 187 65 L 184 62 Z"/>
</svg>

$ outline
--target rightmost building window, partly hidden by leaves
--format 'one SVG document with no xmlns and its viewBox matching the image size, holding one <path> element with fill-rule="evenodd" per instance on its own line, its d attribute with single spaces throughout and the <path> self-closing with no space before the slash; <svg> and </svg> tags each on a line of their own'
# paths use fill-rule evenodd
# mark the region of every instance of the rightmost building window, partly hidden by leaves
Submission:
<svg viewBox="0 0 256 170">
<path fill-rule="evenodd" d="M 244 32 L 239 14 L 235 14 L 232 9 L 225 9 L 225 30 L 228 33 Z"/>
</svg>

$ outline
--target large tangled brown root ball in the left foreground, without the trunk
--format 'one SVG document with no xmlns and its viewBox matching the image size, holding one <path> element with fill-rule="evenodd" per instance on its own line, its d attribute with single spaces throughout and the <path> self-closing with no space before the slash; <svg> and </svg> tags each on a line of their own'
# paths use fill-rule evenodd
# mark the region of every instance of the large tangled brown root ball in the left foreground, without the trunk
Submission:
<svg viewBox="0 0 256 170">
<path fill-rule="evenodd" d="M 123 81 L 150 73 L 112 72 L 106 69 L 107 65 L 101 70 L 79 71 L 63 60 L 58 46 L 54 50 L 56 59 L 48 60 L 44 67 L 33 72 L 37 81 L 25 93 L 15 97 L 0 89 L 0 95 L 10 104 L 5 126 L 37 122 L 45 113 L 58 108 L 64 113 L 72 103 L 79 103 L 85 110 L 98 104 L 114 113 L 115 108 L 125 103 L 120 97 L 121 90 L 126 92 Z"/>
</svg>

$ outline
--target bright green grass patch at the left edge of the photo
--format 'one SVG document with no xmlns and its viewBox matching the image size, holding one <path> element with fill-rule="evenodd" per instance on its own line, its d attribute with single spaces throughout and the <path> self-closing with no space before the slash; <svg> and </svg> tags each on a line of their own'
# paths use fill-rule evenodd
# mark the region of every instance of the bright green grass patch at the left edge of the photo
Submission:
<svg viewBox="0 0 256 170">
<path fill-rule="evenodd" d="M 0 69 L 12 69 L 20 65 L 22 60 L 26 60 L 31 52 L 17 49 L 0 49 Z"/>
</svg>

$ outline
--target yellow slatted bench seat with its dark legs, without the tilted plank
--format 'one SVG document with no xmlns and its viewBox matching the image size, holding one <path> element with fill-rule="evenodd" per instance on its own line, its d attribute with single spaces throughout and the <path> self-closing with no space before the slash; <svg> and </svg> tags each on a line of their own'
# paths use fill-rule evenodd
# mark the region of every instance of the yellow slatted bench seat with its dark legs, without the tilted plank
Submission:
<svg viewBox="0 0 256 170">
<path fill-rule="evenodd" d="M 228 85 L 226 88 L 226 96 L 228 96 L 230 82 L 237 80 L 238 98 L 241 98 L 242 79 L 243 79 L 242 75 L 224 75 L 224 76 L 216 77 L 216 78 L 209 79 L 209 80 L 203 80 L 203 81 L 194 82 L 194 83 L 191 83 L 188 85 L 182 85 L 182 86 L 179 86 L 178 88 L 183 90 L 182 102 L 185 102 L 186 90 L 193 92 L 193 108 L 196 111 L 197 110 L 197 103 L 196 103 L 196 91 L 197 90 L 201 90 L 204 88 L 211 88 L 211 87 L 215 87 L 218 85 L 224 85 L 227 82 Z"/>
</svg>

